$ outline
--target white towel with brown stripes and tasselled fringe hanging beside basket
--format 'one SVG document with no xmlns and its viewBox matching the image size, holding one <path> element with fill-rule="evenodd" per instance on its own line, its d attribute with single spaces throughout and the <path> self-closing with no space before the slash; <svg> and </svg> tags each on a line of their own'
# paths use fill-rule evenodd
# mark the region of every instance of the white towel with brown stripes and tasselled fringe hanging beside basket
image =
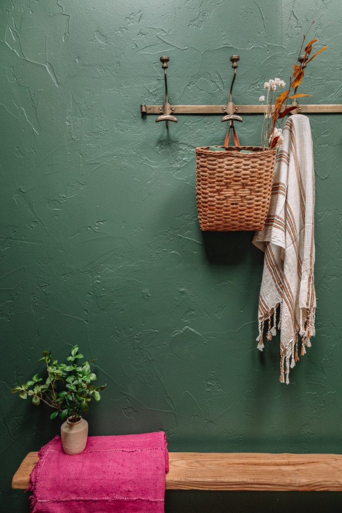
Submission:
<svg viewBox="0 0 342 513">
<path fill-rule="evenodd" d="M 286 383 L 289 383 L 290 367 L 299 360 L 298 334 L 301 336 L 302 356 L 306 347 L 311 346 L 310 337 L 315 334 L 315 192 L 308 117 L 301 114 L 291 116 L 283 134 L 266 225 L 255 233 L 253 244 L 265 252 L 257 347 L 260 351 L 264 349 L 265 322 L 267 340 L 276 334 L 276 310 L 280 305 L 280 381 L 284 383 L 285 372 Z"/>
</svg>

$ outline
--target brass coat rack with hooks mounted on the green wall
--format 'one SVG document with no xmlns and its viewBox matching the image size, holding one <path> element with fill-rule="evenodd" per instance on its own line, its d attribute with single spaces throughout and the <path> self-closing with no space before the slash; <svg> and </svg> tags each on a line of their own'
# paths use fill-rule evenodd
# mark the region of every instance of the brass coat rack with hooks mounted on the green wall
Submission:
<svg viewBox="0 0 342 513">
<path fill-rule="evenodd" d="M 222 121 L 229 121 L 232 126 L 234 121 L 243 121 L 242 117 L 238 114 L 264 114 L 266 112 L 266 105 L 235 105 L 232 101 L 233 85 L 236 77 L 237 62 L 239 61 L 238 55 L 230 57 L 232 68 L 234 69 L 234 76 L 230 86 L 229 102 L 226 105 L 171 105 L 168 100 L 168 87 L 166 69 L 170 58 L 167 55 L 160 57 L 160 62 L 164 69 L 165 80 L 165 96 L 166 101 L 164 105 L 146 105 L 142 104 L 140 111 L 142 114 L 158 114 L 156 122 L 165 121 L 168 128 L 168 122 L 177 122 L 174 114 L 225 114 Z M 299 105 L 298 102 L 293 102 L 291 106 L 296 107 L 291 111 L 291 114 L 300 113 L 315 113 L 315 114 L 332 114 L 342 113 L 342 104 L 311 104 Z M 289 107 L 289 106 L 288 106 Z M 285 106 L 282 110 L 284 110 Z"/>
</svg>

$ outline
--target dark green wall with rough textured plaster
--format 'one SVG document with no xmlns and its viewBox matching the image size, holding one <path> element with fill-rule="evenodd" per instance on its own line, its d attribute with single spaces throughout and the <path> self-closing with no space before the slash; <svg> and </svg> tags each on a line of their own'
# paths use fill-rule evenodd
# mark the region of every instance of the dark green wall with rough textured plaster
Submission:
<svg viewBox="0 0 342 513">
<path fill-rule="evenodd" d="M 307 70 L 313 103 L 341 102 L 338 0 L 1 0 L 0 291 L 2 511 L 28 511 L 10 480 L 59 429 L 10 388 L 42 350 L 96 357 L 103 399 L 91 435 L 156 429 L 171 451 L 342 451 L 340 115 L 311 115 L 316 172 L 317 330 L 278 382 L 278 343 L 256 350 L 263 255 L 252 233 L 201 233 L 196 146 L 220 116 L 142 119 L 163 103 L 257 103 L 288 81 L 303 32 L 329 50 Z M 244 144 L 262 118 L 244 116 Z M 4 463 L 5 462 L 5 463 Z M 287 511 L 338 494 L 168 492 L 166 510 Z M 256 509 L 255 509 L 256 508 Z M 260 509 L 259 509 L 260 508 Z M 314 509 L 311 509 L 311 511 Z"/>
</svg>

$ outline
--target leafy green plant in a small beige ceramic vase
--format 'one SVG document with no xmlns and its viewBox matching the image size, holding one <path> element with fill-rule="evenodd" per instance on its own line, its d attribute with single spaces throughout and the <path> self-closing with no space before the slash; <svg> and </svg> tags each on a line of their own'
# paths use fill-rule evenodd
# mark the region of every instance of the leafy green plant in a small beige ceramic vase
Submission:
<svg viewBox="0 0 342 513">
<path fill-rule="evenodd" d="M 95 387 L 96 374 L 92 372 L 89 362 L 79 362 L 84 358 L 78 352 L 78 346 L 71 349 L 67 363 L 58 363 L 50 353 L 43 351 L 43 358 L 38 362 L 45 362 L 46 374 L 39 378 L 35 374 L 33 378 L 22 386 L 15 386 L 11 393 L 19 392 L 22 399 L 32 397 L 35 406 L 47 404 L 53 411 L 50 419 L 59 416 L 66 419 L 61 426 L 61 438 L 63 450 L 66 454 L 73 455 L 82 452 L 87 444 L 88 422 L 83 418 L 88 412 L 89 403 L 94 398 L 100 400 L 100 391 L 106 385 Z M 37 362 L 37 363 L 38 363 Z"/>
</svg>

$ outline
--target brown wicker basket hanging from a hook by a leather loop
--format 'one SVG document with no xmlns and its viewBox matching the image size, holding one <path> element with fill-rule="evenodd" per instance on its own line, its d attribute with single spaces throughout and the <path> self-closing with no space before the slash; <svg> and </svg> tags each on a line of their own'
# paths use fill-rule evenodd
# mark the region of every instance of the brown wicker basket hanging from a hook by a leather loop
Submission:
<svg viewBox="0 0 342 513">
<path fill-rule="evenodd" d="M 212 151 L 205 146 L 196 148 L 196 156 L 200 229 L 262 230 L 270 205 L 276 150 L 228 146 L 226 151 Z"/>
</svg>

